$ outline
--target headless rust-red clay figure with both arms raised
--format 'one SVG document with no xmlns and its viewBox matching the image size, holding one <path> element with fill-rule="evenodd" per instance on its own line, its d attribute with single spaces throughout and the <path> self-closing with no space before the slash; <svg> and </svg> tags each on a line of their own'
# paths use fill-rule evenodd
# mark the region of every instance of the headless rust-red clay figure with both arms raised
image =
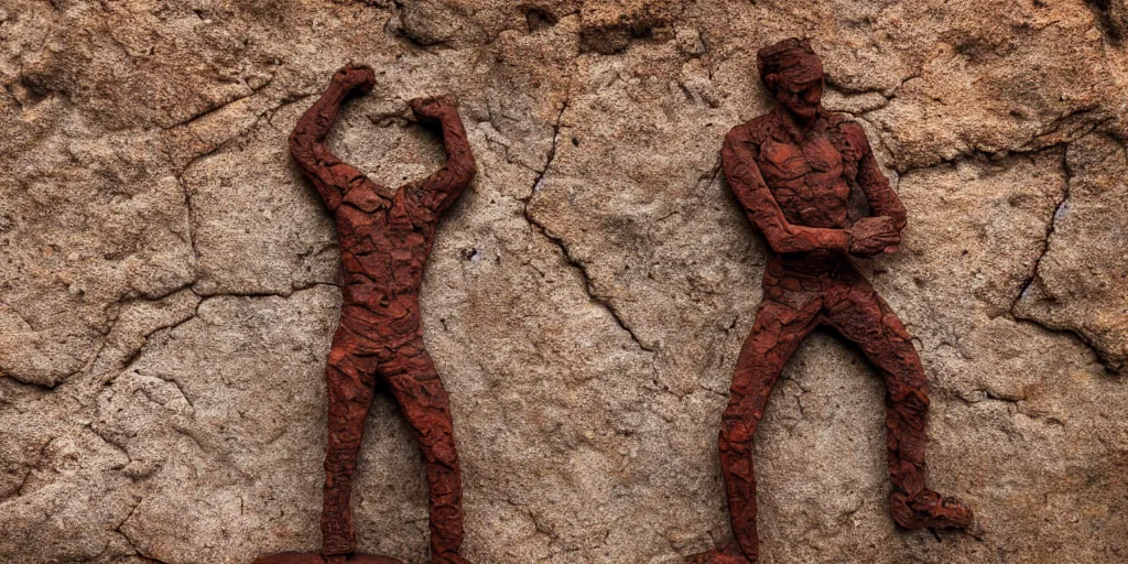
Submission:
<svg viewBox="0 0 1128 564">
<path fill-rule="evenodd" d="M 411 102 L 421 122 L 442 129 L 447 162 L 433 175 L 391 191 L 342 162 L 325 146 L 342 103 L 368 91 L 372 70 L 345 65 L 298 122 L 290 151 L 336 219 L 344 271 L 343 303 L 329 350 L 329 416 L 325 455 L 321 553 L 265 556 L 258 564 L 398 561 L 356 554 L 350 494 L 364 420 L 377 379 L 391 390 L 426 466 L 431 562 L 460 564 L 462 483 L 447 391 L 423 347 L 420 283 L 439 215 L 474 178 L 475 166 L 453 98 Z"/>
</svg>

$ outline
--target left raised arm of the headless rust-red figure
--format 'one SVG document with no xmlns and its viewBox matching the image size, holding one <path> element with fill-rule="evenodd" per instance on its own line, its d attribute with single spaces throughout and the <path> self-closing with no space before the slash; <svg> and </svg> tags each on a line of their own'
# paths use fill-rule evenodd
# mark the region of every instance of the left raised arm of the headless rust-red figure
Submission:
<svg viewBox="0 0 1128 564">
<path fill-rule="evenodd" d="M 290 134 L 290 153 L 302 174 L 314 183 L 329 210 L 336 210 L 349 185 L 364 173 L 329 152 L 325 136 L 337 118 L 341 105 L 353 89 L 368 91 L 376 83 L 372 69 L 346 64 L 333 74 L 329 88 L 310 106 Z"/>
</svg>

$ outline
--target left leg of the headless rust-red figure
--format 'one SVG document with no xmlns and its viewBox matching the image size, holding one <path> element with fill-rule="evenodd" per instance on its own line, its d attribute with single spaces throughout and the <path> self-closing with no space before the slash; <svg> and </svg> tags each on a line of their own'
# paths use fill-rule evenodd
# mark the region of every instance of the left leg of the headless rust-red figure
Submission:
<svg viewBox="0 0 1128 564">
<path fill-rule="evenodd" d="M 374 380 L 356 368 L 340 335 L 333 340 L 325 371 L 329 396 L 329 437 L 325 449 L 321 554 L 326 556 L 356 550 L 350 500 L 364 420 L 374 395 Z"/>
</svg>

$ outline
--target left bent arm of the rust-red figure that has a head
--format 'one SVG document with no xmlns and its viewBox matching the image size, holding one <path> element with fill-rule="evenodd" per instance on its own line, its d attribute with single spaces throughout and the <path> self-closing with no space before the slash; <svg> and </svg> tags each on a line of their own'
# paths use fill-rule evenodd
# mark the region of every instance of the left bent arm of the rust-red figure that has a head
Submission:
<svg viewBox="0 0 1128 564">
<path fill-rule="evenodd" d="M 721 164 L 744 214 L 768 240 L 776 253 L 802 253 L 817 249 L 849 250 L 849 232 L 844 229 L 823 229 L 793 226 L 784 218 L 779 204 L 760 176 L 756 157 L 746 147 L 747 127 L 738 126 L 724 138 Z"/>
</svg>

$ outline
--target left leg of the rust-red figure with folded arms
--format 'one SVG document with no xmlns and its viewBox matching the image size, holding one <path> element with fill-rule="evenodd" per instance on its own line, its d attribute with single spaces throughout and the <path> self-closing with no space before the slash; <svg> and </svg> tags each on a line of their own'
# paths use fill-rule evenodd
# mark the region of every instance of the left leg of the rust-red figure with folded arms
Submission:
<svg viewBox="0 0 1128 564">
<path fill-rule="evenodd" d="M 818 302 L 802 309 L 765 300 L 744 341 L 732 374 L 729 406 L 717 440 L 737 546 L 690 557 L 690 563 L 744 563 L 759 557 L 756 532 L 756 453 L 754 438 L 772 388 L 787 359 L 818 325 Z"/>
</svg>

